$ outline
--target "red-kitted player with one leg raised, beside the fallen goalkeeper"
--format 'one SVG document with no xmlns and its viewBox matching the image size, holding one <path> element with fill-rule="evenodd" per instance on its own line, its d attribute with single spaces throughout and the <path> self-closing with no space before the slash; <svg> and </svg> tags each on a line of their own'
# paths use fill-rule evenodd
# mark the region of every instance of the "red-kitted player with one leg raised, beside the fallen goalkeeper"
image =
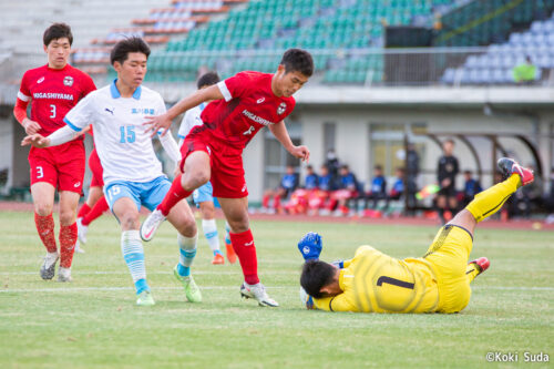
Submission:
<svg viewBox="0 0 554 369">
<path fill-rule="evenodd" d="M 203 125 L 186 136 L 181 153 L 183 174 L 177 176 L 164 201 L 143 223 L 141 236 L 150 240 L 170 209 L 182 198 L 211 181 L 214 197 L 230 226 L 230 242 L 240 260 L 245 281 L 242 296 L 254 298 L 260 306 L 278 306 L 260 284 L 256 247 L 248 221 L 248 191 L 244 178 L 243 148 L 264 126 L 294 156 L 309 158 L 306 146 L 290 141 L 284 119 L 295 107 L 293 94 L 314 73 L 311 55 L 300 49 L 285 52 L 275 74 L 240 72 L 216 85 L 198 90 L 183 99 L 167 113 L 150 117 L 152 130 L 167 129 L 178 114 L 214 100 L 202 112 Z M 165 132 L 164 132 L 165 133 Z"/>
</svg>

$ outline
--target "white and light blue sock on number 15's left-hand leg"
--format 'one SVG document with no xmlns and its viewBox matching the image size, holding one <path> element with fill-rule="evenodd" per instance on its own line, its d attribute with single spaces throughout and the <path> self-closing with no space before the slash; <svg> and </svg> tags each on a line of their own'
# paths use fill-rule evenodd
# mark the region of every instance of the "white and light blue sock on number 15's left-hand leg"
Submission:
<svg viewBox="0 0 554 369">
<path fill-rule="evenodd" d="M 129 267 L 136 294 L 143 290 L 150 290 L 146 283 L 146 267 L 144 265 L 144 249 L 142 247 L 141 235 L 138 230 L 123 230 L 121 233 L 121 253 Z"/>
</svg>

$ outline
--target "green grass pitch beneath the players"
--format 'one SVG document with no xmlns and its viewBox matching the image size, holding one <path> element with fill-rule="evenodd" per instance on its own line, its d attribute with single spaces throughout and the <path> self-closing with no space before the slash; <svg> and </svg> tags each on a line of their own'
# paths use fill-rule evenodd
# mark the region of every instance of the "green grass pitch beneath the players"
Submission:
<svg viewBox="0 0 554 369">
<path fill-rule="evenodd" d="M 552 232 L 478 228 L 472 256 L 488 256 L 491 268 L 468 308 L 447 316 L 308 311 L 298 297 L 296 243 L 306 232 L 322 235 L 326 260 L 362 244 L 402 258 L 421 256 L 438 227 L 257 221 L 252 228 L 260 278 L 279 308 L 242 300 L 239 267 L 212 266 L 203 236 L 193 274 L 204 301 L 186 303 L 172 276 L 178 250 L 170 224 L 145 244 L 156 305 L 138 308 L 112 216 L 91 225 L 74 281 L 60 284 L 39 277 L 44 250 L 32 214 L 0 213 L 0 368 L 504 366 L 489 363 L 490 351 L 517 352 L 519 365 L 524 352 L 553 360 Z"/>
</svg>

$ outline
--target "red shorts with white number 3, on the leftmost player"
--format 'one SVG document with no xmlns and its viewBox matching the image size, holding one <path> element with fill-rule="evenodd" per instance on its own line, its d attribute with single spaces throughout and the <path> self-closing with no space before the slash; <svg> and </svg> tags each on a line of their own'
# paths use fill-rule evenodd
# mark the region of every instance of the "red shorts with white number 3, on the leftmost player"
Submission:
<svg viewBox="0 0 554 369">
<path fill-rule="evenodd" d="M 58 191 L 82 194 L 85 152 L 82 140 L 60 146 L 31 147 L 31 186 L 39 182 L 50 183 Z"/>
</svg>

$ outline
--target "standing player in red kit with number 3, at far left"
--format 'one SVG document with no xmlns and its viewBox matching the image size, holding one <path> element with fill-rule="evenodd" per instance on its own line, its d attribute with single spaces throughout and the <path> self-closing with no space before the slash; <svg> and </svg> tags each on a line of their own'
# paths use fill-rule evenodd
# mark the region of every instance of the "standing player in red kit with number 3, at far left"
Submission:
<svg viewBox="0 0 554 369">
<path fill-rule="evenodd" d="M 68 24 L 52 24 L 43 34 L 48 64 L 23 74 L 13 115 L 28 135 L 40 133 L 47 136 L 65 126 L 65 114 L 96 89 L 88 74 L 68 64 L 72 42 L 73 35 Z M 30 101 L 31 117 L 28 117 L 27 105 Z M 42 279 L 52 279 L 55 264 L 61 258 L 58 280 L 69 281 L 78 238 L 76 207 L 83 188 L 83 137 L 55 147 L 32 147 L 29 164 L 34 223 L 48 252 L 40 275 Z M 60 195 L 60 253 L 52 217 L 57 188 Z"/>
</svg>

